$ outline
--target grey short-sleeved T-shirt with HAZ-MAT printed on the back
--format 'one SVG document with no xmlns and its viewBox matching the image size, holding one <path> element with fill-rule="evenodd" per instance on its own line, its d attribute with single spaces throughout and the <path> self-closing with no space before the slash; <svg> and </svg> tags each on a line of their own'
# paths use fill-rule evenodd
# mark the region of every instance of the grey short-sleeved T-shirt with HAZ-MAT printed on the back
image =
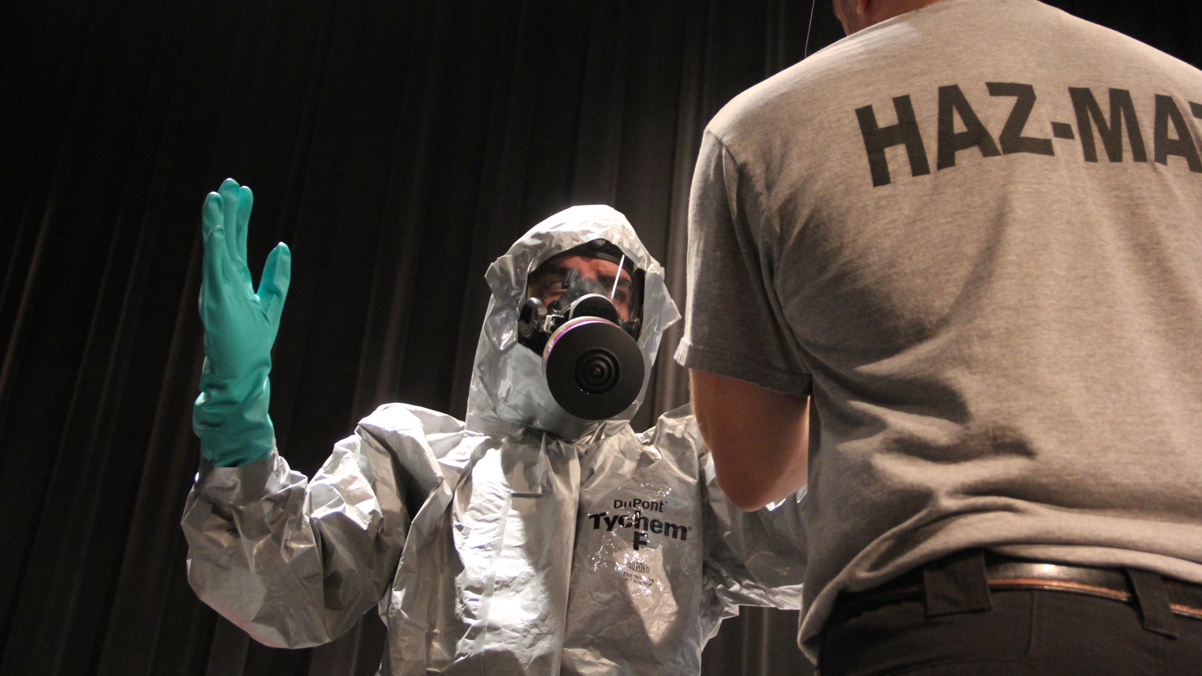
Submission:
<svg viewBox="0 0 1202 676">
<path fill-rule="evenodd" d="M 813 395 L 801 636 L 956 550 L 1202 582 L 1202 72 L 941 0 L 707 128 L 677 358 Z"/>
</svg>

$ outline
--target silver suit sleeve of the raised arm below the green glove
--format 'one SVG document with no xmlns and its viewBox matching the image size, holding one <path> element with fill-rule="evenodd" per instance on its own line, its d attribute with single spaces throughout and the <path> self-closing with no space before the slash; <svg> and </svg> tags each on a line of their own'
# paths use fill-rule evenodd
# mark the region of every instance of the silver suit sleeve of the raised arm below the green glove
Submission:
<svg viewBox="0 0 1202 676">
<path fill-rule="evenodd" d="M 458 423 L 413 409 L 381 407 L 311 480 L 274 450 L 244 467 L 202 461 L 182 522 L 196 594 L 268 646 L 353 627 L 388 591 L 415 504 L 441 482 L 429 425 Z"/>
</svg>

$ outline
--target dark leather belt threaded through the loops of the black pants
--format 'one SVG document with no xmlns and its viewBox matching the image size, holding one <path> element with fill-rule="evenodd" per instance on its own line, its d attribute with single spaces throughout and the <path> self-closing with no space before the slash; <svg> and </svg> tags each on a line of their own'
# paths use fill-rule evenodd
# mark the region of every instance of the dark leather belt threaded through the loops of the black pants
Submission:
<svg viewBox="0 0 1202 676">
<path fill-rule="evenodd" d="M 984 577 L 989 589 L 1045 589 L 1087 594 L 1121 603 L 1135 598 L 1131 579 L 1119 568 L 1065 565 L 1016 559 L 986 552 Z M 1164 577 L 1168 607 L 1174 615 L 1202 619 L 1202 585 Z M 923 569 L 905 573 L 864 592 L 840 592 L 827 625 L 850 619 L 885 604 L 923 598 Z"/>
</svg>

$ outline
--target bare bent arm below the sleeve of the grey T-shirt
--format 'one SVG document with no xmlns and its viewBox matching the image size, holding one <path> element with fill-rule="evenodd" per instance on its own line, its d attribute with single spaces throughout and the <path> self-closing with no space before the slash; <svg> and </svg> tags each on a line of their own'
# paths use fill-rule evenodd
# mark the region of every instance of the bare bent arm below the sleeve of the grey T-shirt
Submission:
<svg viewBox="0 0 1202 676">
<path fill-rule="evenodd" d="M 731 502 L 751 511 L 805 485 L 809 397 L 704 370 L 689 375 L 692 410 Z"/>
</svg>

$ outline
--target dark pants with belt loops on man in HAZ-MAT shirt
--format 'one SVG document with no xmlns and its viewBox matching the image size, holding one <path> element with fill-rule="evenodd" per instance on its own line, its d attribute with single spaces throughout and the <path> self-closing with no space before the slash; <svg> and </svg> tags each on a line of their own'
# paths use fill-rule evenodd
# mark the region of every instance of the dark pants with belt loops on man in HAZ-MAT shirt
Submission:
<svg viewBox="0 0 1202 676">
<path fill-rule="evenodd" d="M 1202 621 L 1172 615 L 1160 577 L 1142 575 L 1139 603 L 1132 604 L 1069 592 L 989 589 L 983 574 L 974 580 L 964 567 L 934 575 L 928 569 L 926 598 L 885 604 L 827 627 L 819 674 L 1202 675 Z M 933 592 L 940 606 L 934 616 L 927 610 Z"/>
</svg>

